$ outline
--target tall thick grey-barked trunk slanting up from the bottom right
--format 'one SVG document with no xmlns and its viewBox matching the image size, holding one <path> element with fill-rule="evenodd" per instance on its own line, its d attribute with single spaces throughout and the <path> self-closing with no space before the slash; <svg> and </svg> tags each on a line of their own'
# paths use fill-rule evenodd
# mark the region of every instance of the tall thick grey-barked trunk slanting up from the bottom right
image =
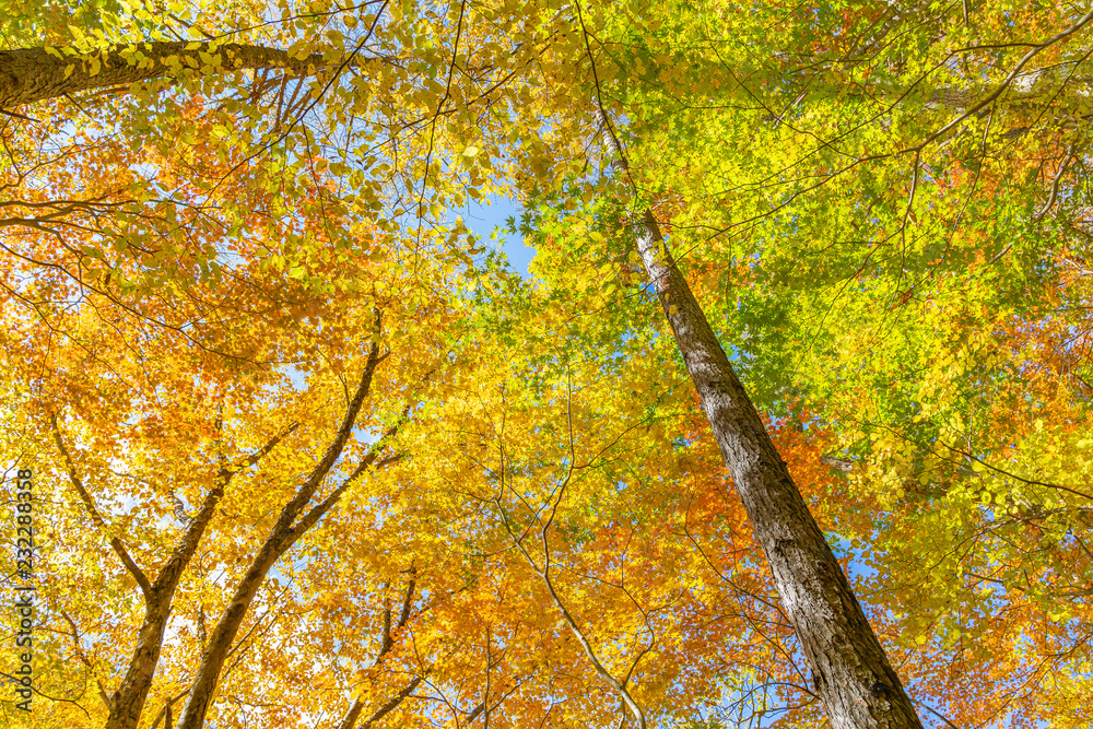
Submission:
<svg viewBox="0 0 1093 729">
<path fill-rule="evenodd" d="M 628 176 L 623 150 L 602 110 L 599 120 L 615 168 Z M 653 213 L 646 210 L 633 231 L 832 726 L 921 727 L 846 575 L 677 268 Z"/>
</svg>

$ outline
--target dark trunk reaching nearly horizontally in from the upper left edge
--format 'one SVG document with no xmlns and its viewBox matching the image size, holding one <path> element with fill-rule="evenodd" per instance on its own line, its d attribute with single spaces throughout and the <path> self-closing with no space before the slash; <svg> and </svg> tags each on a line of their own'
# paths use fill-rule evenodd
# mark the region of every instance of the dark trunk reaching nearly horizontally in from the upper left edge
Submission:
<svg viewBox="0 0 1093 729">
<path fill-rule="evenodd" d="M 210 62 L 210 60 L 212 62 Z M 355 59 L 354 64 L 368 59 Z M 168 62 L 169 61 L 169 62 Z M 238 70 L 284 69 L 310 73 L 330 66 L 321 54 L 296 58 L 287 51 L 234 43 L 140 43 L 114 46 L 86 58 L 44 48 L 0 50 L 0 108 L 33 104 L 95 89 L 129 86 L 153 79 Z"/>
</svg>

